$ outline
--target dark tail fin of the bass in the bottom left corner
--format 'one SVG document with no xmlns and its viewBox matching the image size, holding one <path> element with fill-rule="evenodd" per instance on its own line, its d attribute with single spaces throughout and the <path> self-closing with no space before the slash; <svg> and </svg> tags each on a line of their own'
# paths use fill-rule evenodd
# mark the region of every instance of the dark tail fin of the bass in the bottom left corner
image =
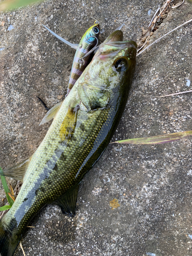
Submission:
<svg viewBox="0 0 192 256">
<path fill-rule="evenodd" d="M 12 234 L 4 229 L 2 220 L 0 220 L 0 255 L 12 256 L 16 250 L 20 237 L 13 239 Z"/>
</svg>

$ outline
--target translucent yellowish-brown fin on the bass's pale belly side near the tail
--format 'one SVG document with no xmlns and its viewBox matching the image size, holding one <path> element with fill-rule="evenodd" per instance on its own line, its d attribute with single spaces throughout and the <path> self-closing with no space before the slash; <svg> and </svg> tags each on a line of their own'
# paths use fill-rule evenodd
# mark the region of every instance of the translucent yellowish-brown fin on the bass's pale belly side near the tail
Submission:
<svg viewBox="0 0 192 256">
<path fill-rule="evenodd" d="M 24 160 L 23 162 L 18 163 L 12 167 L 9 167 L 4 170 L 0 170 L 0 175 L 7 176 L 7 177 L 13 178 L 15 180 L 20 180 L 23 182 L 26 170 L 29 166 L 32 156 L 30 158 L 28 158 L 27 160 Z"/>
</svg>

